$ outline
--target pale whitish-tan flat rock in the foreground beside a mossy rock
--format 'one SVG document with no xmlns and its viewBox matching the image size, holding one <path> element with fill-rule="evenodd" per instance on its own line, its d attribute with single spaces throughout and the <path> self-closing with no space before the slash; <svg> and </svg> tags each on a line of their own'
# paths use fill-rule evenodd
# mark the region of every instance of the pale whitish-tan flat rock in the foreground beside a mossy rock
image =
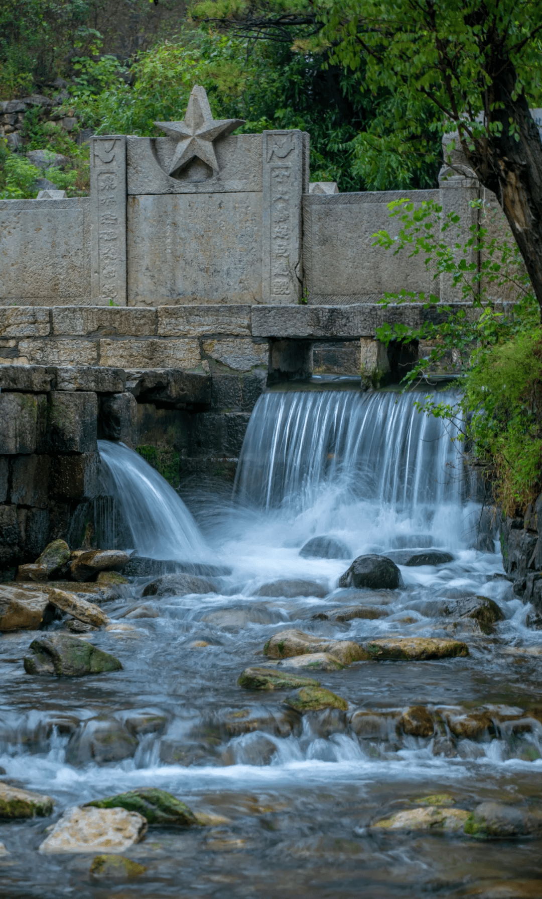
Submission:
<svg viewBox="0 0 542 899">
<path fill-rule="evenodd" d="M 39 852 L 122 852 L 143 840 L 147 822 L 124 808 L 79 808 L 65 812 Z"/>
</svg>

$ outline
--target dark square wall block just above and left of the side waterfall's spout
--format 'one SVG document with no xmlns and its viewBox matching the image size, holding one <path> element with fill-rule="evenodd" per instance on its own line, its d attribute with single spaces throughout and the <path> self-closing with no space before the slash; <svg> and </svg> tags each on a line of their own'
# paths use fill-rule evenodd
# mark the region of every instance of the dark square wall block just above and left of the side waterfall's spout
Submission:
<svg viewBox="0 0 542 899">
<path fill-rule="evenodd" d="M 95 452 L 98 398 L 95 393 L 52 391 L 48 409 L 51 452 Z"/>
</svg>

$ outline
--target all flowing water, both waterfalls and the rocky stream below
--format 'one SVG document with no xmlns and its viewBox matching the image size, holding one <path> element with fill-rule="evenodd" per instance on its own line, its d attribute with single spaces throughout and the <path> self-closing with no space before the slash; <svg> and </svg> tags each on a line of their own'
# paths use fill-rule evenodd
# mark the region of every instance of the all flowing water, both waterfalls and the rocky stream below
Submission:
<svg viewBox="0 0 542 899">
<path fill-rule="evenodd" d="M 412 394 L 271 391 L 251 416 L 232 498 L 202 491 L 185 497 L 190 511 L 143 459 L 101 441 L 127 548 L 198 563 L 203 574 L 213 566 L 216 592 L 144 597 L 151 574 L 121 588 L 103 604 L 112 626 L 83 635 L 120 659 L 114 674 L 32 678 L 22 669 L 29 632 L 3 635 L 0 767 L 55 798 L 52 820 L 67 806 L 155 786 L 223 821 L 151 828 L 127 850 L 147 868 L 128 886 L 91 877 L 89 857 L 39 855 L 50 819 L 0 823 L 10 853 L 0 857 L 1 896 L 542 895 L 539 839 L 371 826 L 428 795 L 468 810 L 540 795 L 542 632 L 527 626 L 491 530 L 479 532 L 485 517 L 456 436 L 418 414 Z M 315 537 L 344 557 L 300 556 Z M 405 564 L 431 550 L 452 560 Z M 404 587 L 339 589 L 364 553 L 395 559 Z M 313 586 L 269 595 L 277 580 Z M 475 596 L 493 599 L 503 619 L 484 630 L 450 611 Z M 371 617 L 328 615 L 353 604 Z M 348 711 L 298 717 L 284 693 L 237 686 L 284 628 L 359 642 L 453 637 L 469 654 L 311 674 Z M 405 733 L 408 707 L 424 707 L 433 734 Z M 92 742 L 101 727 L 113 734 L 109 750 Z"/>
</svg>

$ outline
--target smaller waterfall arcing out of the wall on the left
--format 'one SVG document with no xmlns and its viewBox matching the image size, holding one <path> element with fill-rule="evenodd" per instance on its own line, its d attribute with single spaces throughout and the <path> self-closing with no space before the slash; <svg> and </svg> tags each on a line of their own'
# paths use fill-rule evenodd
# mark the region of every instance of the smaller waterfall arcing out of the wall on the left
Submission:
<svg viewBox="0 0 542 899">
<path fill-rule="evenodd" d="M 139 555 L 202 558 L 206 547 L 196 521 L 162 475 L 124 443 L 98 441 L 98 449 L 107 492 L 122 510 Z"/>
</svg>

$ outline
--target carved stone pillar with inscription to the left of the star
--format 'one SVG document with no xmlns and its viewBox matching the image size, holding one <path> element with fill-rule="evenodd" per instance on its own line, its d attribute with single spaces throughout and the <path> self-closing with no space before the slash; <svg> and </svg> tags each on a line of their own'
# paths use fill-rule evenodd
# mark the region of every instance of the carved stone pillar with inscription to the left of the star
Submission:
<svg viewBox="0 0 542 899">
<path fill-rule="evenodd" d="M 124 135 L 91 138 L 92 305 L 127 305 L 127 155 Z"/>
</svg>

